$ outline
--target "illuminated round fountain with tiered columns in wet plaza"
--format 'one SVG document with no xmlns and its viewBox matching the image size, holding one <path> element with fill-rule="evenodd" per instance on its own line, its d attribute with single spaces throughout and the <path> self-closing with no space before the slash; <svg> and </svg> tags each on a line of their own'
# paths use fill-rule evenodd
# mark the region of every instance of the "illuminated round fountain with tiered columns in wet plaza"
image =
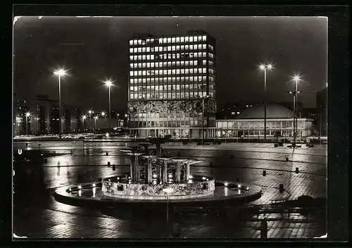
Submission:
<svg viewBox="0 0 352 248">
<path fill-rule="evenodd" d="M 54 196 L 65 199 L 99 203 L 191 203 L 251 202 L 260 197 L 261 188 L 239 182 L 220 182 L 208 175 L 191 175 L 190 167 L 203 161 L 161 156 L 161 142 L 156 144 L 156 155 L 148 145 L 120 150 L 130 156 L 130 172 L 69 187 L 59 187 Z M 113 166 L 114 167 L 114 166 Z"/>
</svg>

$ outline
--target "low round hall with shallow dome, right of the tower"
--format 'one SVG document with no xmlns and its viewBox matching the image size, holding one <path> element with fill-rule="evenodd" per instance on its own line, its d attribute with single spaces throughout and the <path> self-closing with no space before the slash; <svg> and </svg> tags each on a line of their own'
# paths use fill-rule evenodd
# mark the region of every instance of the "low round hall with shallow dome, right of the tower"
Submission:
<svg viewBox="0 0 352 248">
<path fill-rule="evenodd" d="M 297 119 L 297 137 L 308 137 L 313 120 Z M 267 104 L 267 137 L 293 137 L 294 113 L 278 104 Z M 264 104 L 242 111 L 236 119 L 216 120 L 218 137 L 264 137 Z"/>
</svg>

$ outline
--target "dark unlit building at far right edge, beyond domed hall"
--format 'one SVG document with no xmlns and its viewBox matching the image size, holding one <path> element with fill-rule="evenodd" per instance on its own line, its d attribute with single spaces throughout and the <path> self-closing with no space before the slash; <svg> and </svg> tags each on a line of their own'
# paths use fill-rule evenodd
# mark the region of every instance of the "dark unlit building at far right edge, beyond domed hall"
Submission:
<svg viewBox="0 0 352 248">
<path fill-rule="evenodd" d="M 321 136 L 327 136 L 327 87 L 317 92 L 318 125 Z"/>
</svg>

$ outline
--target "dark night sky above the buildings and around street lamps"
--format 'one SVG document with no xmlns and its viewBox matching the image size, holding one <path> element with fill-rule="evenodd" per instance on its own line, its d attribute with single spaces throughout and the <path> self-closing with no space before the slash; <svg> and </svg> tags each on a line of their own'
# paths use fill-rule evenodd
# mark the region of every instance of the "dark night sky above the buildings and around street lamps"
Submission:
<svg viewBox="0 0 352 248">
<path fill-rule="evenodd" d="M 126 109 L 128 39 L 134 32 L 184 35 L 204 30 L 216 39 L 218 106 L 227 101 L 263 99 L 260 62 L 272 62 L 268 100 L 291 101 L 293 73 L 301 73 L 299 101 L 315 107 L 315 93 L 327 83 L 327 18 L 265 17 L 22 17 L 14 25 L 15 94 L 58 98 L 58 66 L 70 69 L 62 81 L 62 99 L 84 108 L 107 109 L 113 78 L 112 109 Z M 63 45 L 76 44 L 76 45 Z"/>
</svg>

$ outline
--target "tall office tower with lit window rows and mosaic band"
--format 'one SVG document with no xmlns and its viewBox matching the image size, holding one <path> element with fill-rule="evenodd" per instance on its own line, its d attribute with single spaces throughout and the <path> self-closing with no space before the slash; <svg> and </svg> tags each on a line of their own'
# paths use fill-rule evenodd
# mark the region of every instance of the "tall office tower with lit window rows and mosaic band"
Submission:
<svg viewBox="0 0 352 248">
<path fill-rule="evenodd" d="M 215 85 L 215 39 L 206 32 L 134 35 L 128 87 L 130 134 L 201 138 L 203 130 L 204 137 L 215 137 Z"/>
</svg>

